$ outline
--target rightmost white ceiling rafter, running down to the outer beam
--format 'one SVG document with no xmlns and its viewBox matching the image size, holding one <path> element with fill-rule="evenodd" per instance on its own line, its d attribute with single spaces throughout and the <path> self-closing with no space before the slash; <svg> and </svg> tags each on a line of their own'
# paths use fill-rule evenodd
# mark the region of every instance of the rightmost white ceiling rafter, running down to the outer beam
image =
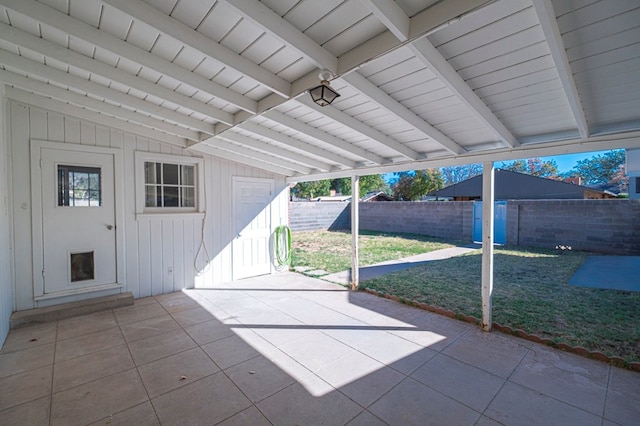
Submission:
<svg viewBox="0 0 640 426">
<path fill-rule="evenodd" d="M 540 28 L 544 34 L 549 50 L 551 52 L 551 58 L 558 70 L 560 81 L 562 82 L 562 88 L 569 101 L 571 112 L 576 120 L 576 125 L 580 136 L 583 138 L 589 137 L 589 125 L 587 124 L 587 118 L 582 108 L 582 102 L 580 101 L 580 95 L 578 94 L 578 88 L 576 82 L 573 79 L 573 73 L 571 72 L 571 65 L 567 58 L 567 52 L 562 42 L 562 35 L 560 34 L 560 28 L 558 28 L 558 21 L 556 21 L 556 14 L 553 10 L 553 5 L 550 0 L 533 0 L 533 9 L 538 15 L 540 21 Z"/>
</svg>

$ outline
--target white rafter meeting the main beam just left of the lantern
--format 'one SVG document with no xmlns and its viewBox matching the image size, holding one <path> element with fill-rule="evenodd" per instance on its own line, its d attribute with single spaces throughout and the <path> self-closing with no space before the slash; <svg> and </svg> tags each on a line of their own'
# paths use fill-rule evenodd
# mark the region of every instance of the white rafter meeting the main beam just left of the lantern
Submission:
<svg viewBox="0 0 640 426">
<path fill-rule="evenodd" d="M 216 43 L 214 40 L 211 40 L 182 22 L 165 15 L 155 7 L 140 0 L 102 1 L 120 9 L 134 19 L 146 23 L 163 34 L 198 50 L 212 61 L 246 75 L 280 96 L 285 98 L 289 97 L 291 83 L 261 68 L 259 65 L 256 65 L 220 43 Z"/>
</svg>

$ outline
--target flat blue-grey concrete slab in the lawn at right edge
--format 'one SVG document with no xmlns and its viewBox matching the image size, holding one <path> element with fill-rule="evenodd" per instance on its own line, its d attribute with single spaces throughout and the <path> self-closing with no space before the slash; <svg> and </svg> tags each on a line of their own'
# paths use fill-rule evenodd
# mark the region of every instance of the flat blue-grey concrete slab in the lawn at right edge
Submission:
<svg viewBox="0 0 640 426">
<path fill-rule="evenodd" d="M 640 256 L 589 256 L 570 285 L 640 291 Z"/>
</svg>

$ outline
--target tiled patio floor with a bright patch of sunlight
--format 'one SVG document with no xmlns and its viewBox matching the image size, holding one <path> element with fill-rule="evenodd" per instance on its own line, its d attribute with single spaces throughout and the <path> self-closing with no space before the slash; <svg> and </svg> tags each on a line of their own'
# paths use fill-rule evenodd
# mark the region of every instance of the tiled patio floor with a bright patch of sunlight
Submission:
<svg viewBox="0 0 640 426">
<path fill-rule="evenodd" d="M 2 425 L 632 425 L 640 374 L 298 274 L 11 331 Z"/>
</svg>

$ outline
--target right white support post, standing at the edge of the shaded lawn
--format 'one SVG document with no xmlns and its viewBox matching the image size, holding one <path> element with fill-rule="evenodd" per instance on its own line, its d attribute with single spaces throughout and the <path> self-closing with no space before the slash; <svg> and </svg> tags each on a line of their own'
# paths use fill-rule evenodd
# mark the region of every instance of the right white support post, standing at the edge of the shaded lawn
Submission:
<svg viewBox="0 0 640 426">
<path fill-rule="evenodd" d="M 494 168 L 492 161 L 482 164 L 482 329 L 491 331 L 493 296 Z"/>
</svg>

